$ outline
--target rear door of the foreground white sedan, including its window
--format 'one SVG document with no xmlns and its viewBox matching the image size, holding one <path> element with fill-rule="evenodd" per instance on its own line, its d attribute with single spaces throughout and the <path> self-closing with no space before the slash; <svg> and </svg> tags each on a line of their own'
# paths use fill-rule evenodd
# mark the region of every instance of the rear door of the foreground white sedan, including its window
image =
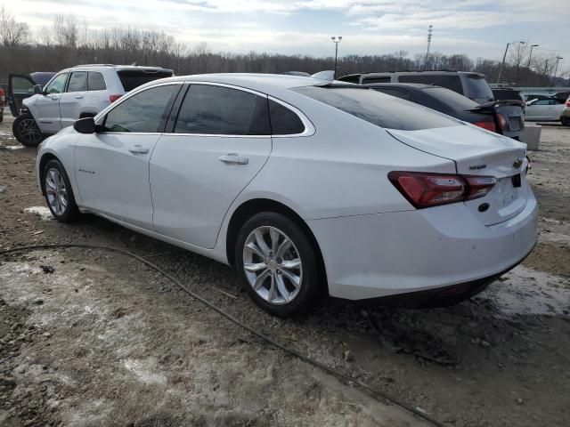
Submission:
<svg viewBox="0 0 570 427">
<path fill-rule="evenodd" d="M 267 97 L 224 85 L 192 84 L 171 133 L 151 157 L 154 228 L 212 248 L 224 215 L 272 149 Z"/>
</svg>

